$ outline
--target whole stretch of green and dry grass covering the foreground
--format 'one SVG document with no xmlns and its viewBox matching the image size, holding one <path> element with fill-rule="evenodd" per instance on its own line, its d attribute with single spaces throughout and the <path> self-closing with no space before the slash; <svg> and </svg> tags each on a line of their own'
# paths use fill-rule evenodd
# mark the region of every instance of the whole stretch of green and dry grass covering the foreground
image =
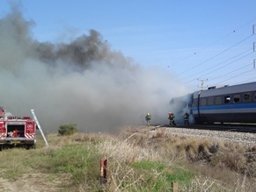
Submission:
<svg viewBox="0 0 256 192">
<path fill-rule="evenodd" d="M 118 135 L 52 133 L 48 147 L 39 134 L 36 149 L 0 153 L 0 177 L 34 179 L 48 191 L 158 192 L 171 191 L 173 183 L 179 191 L 255 191 L 256 146 L 191 139 L 150 127 L 121 130 Z M 103 158 L 106 183 L 100 185 Z"/>
</svg>

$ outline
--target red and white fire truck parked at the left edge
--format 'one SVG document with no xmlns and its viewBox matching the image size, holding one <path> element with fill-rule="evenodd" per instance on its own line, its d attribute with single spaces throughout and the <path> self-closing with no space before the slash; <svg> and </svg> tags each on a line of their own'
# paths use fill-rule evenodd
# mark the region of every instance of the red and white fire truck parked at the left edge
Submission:
<svg viewBox="0 0 256 192">
<path fill-rule="evenodd" d="M 31 117 L 14 117 L 0 107 L 0 151 L 4 147 L 21 146 L 26 149 L 36 146 L 37 125 Z"/>
</svg>

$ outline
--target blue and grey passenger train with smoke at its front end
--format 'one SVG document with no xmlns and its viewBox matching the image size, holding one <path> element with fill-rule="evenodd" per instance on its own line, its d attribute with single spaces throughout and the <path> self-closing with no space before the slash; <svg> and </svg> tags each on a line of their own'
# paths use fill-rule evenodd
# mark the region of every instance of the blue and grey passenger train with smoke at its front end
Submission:
<svg viewBox="0 0 256 192">
<path fill-rule="evenodd" d="M 179 120 L 188 112 L 193 124 L 255 124 L 256 82 L 197 90 L 170 104 Z"/>
</svg>

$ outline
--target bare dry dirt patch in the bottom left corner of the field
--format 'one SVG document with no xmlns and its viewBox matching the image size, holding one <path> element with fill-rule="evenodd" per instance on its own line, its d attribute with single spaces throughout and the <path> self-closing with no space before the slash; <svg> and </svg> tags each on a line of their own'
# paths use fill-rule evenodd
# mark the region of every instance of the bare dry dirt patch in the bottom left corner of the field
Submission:
<svg viewBox="0 0 256 192">
<path fill-rule="evenodd" d="M 69 183 L 69 175 L 56 179 L 48 174 L 26 174 L 15 181 L 0 178 L 0 192 L 63 191 L 63 183 Z"/>
</svg>

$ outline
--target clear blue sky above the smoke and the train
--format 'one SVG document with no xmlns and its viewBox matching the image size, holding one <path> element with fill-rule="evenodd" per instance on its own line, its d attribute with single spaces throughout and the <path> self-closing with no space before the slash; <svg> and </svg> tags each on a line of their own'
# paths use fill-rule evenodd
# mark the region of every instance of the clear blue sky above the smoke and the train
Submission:
<svg viewBox="0 0 256 192">
<path fill-rule="evenodd" d="M 201 82 L 212 86 L 256 80 L 253 0 L 18 2 L 24 17 L 35 23 L 33 38 L 40 41 L 68 41 L 94 29 L 113 50 L 145 68 L 169 70 L 194 89 Z M 0 7 L 4 17 L 8 1 Z"/>
</svg>

